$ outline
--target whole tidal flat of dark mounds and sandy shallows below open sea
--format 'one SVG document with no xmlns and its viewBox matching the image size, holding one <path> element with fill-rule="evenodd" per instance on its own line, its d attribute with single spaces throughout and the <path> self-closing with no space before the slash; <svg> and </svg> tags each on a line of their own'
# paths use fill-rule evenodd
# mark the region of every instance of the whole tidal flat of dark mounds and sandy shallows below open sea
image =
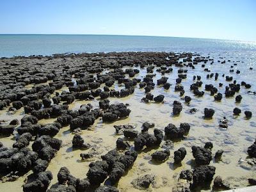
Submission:
<svg viewBox="0 0 256 192">
<path fill-rule="evenodd" d="M 233 149 L 221 146 L 241 134 L 230 129 L 255 126 L 249 102 L 250 95 L 255 102 L 254 82 L 240 81 L 239 61 L 218 59 L 191 52 L 1 58 L 1 180 L 15 184 L 26 177 L 20 191 L 221 191 L 236 188 L 218 175 L 232 164 L 239 170 L 246 166 L 246 185 L 255 185 L 255 130 L 246 132 L 248 140 L 237 140 L 246 151 L 236 141 Z M 218 65 L 230 68 L 227 75 L 216 72 Z M 102 127 L 111 127 L 110 132 Z M 244 151 L 242 163 L 238 151 Z M 60 152 L 73 153 L 65 159 L 81 162 L 58 161 L 61 168 L 53 174 L 50 166 Z M 227 163 L 222 156 L 230 153 L 232 163 Z M 81 164 L 85 166 L 79 168 Z M 154 166 L 150 173 L 134 174 L 147 164 Z M 175 175 L 161 177 L 159 184 L 157 166 L 167 166 L 165 172 Z M 84 169 L 84 177 L 72 175 L 77 168 Z M 128 186 L 123 180 L 129 174 Z"/>
</svg>

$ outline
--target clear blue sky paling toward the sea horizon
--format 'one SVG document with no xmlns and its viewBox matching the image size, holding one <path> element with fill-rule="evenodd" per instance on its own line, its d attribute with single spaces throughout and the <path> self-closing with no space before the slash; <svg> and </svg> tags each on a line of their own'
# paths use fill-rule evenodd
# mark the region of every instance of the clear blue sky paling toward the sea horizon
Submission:
<svg viewBox="0 0 256 192">
<path fill-rule="evenodd" d="M 254 0 L 1 0 L 0 33 L 256 41 Z"/>
</svg>

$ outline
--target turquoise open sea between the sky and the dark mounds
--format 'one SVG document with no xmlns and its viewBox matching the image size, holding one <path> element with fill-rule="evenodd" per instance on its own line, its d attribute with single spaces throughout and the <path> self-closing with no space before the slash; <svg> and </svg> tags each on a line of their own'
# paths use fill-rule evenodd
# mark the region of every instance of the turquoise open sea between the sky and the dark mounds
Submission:
<svg viewBox="0 0 256 192">
<path fill-rule="evenodd" d="M 111 51 L 256 51 L 256 42 L 123 35 L 0 35 L 0 57 Z"/>
</svg>

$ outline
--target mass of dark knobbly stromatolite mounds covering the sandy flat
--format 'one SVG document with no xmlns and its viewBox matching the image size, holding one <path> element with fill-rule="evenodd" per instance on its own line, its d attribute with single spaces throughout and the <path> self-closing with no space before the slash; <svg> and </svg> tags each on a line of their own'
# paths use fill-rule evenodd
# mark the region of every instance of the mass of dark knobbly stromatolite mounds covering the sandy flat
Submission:
<svg viewBox="0 0 256 192">
<path fill-rule="evenodd" d="M 81 62 L 68 61 L 76 59 Z M 62 60 L 63 63 L 56 64 L 57 60 Z M 205 58 L 191 52 L 56 54 L 1 58 L 0 62 L 0 110 L 2 112 L 5 110 L 11 115 L 18 110 L 25 113 L 20 121 L 13 119 L 8 124 L 2 120 L 0 122 L 0 134 L 3 137 L 13 134 L 15 138 L 12 148 L 4 147 L 0 142 L 0 175 L 2 180 L 4 178 L 4 181 L 10 181 L 32 170 L 33 175 L 22 186 L 24 191 L 118 191 L 115 187 L 118 181 L 121 177 L 125 177 L 125 173 L 129 172 L 138 154 L 143 150 L 147 149 L 150 152 L 159 148 L 164 141 L 162 146 L 169 148 L 152 152 L 150 160 L 153 163 L 164 163 L 171 156 L 171 144 L 188 137 L 191 128 L 189 122 L 175 125 L 170 121 L 166 127 L 154 129 L 153 134 L 149 131 L 155 125 L 149 122 L 143 123 L 141 131 L 135 130 L 136 127 L 132 125 L 115 125 L 116 134 L 120 135 L 116 140 L 116 149 L 100 156 L 99 161 L 91 162 L 84 179 L 77 179 L 71 175 L 65 165 L 58 175 L 52 175 L 47 167 L 61 148 L 62 141 L 54 136 L 62 127 L 69 126 L 70 131 L 75 134 L 72 148 L 86 150 L 91 145 L 84 141 L 81 129 L 88 129 L 96 120 L 113 123 L 127 118 L 132 113 L 129 104 L 110 102 L 111 97 L 129 97 L 134 94 L 136 88 L 140 88 L 145 91 L 141 102 L 161 103 L 165 101 L 165 97 L 163 94 L 155 94 L 154 89 L 157 87 L 169 90 L 172 84 L 175 84 L 173 90 L 179 93 L 180 100 L 171 102 L 170 113 L 173 116 L 184 113 L 184 105 L 189 106 L 193 99 L 200 99 L 209 92 L 212 100 L 216 102 L 221 102 L 223 97 L 233 99 L 236 108 L 232 112 L 238 118 L 242 113 L 239 103 L 243 99 L 239 92 L 241 88 L 251 88 L 251 84 L 244 81 L 239 83 L 235 76 L 223 74 L 222 77 L 225 77 L 227 84 L 222 93 L 218 87 L 204 84 L 200 75 L 189 79 L 192 83 L 189 90 L 185 90 L 182 83 L 187 79 L 188 70 L 195 69 L 198 63 L 202 63 L 204 72 L 207 72 L 207 79 L 213 78 L 214 81 L 218 81 L 220 78 L 218 73 L 214 74 L 209 68 L 205 68 L 207 63 L 210 62 L 211 65 L 213 63 L 209 56 Z M 140 74 L 138 68 L 146 68 L 147 74 L 138 76 Z M 171 82 L 166 76 L 176 71 L 173 68 L 177 68 L 177 79 Z M 156 73 L 162 77 L 156 79 Z M 240 71 L 237 70 L 236 74 L 240 74 Z M 122 88 L 117 88 L 116 84 Z M 32 87 L 27 88 L 29 85 Z M 223 83 L 220 83 L 219 87 L 222 86 Z M 64 87 L 67 87 L 67 90 L 61 91 Z M 189 97 L 186 92 L 193 93 L 195 97 Z M 255 94 L 255 92 L 250 93 Z M 95 107 L 92 104 L 83 104 L 79 109 L 71 110 L 70 104 L 76 103 L 77 100 L 99 100 L 99 105 Z M 189 113 L 196 111 L 198 109 L 191 108 Z M 207 120 L 214 116 L 215 111 L 212 108 L 204 108 L 202 113 Z M 243 113 L 245 119 L 252 117 L 252 111 L 246 110 Z M 40 120 L 48 118 L 56 118 L 56 120 L 51 124 L 39 123 Z M 226 118 L 221 120 L 220 127 L 227 129 Z M 248 147 L 250 157 L 256 157 L 255 148 L 255 143 Z M 191 150 L 180 147 L 172 153 L 175 165 L 181 164 L 189 152 L 195 158 L 193 159 L 195 168 L 180 173 L 180 179 L 185 179 L 189 183 L 189 188 L 184 187 L 183 190 L 189 191 L 211 183 L 216 168 L 209 164 L 212 159 L 220 161 L 223 154 L 223 150 L 216 150 L 213 157 L 212 150 L 214 150 L 212 143 L 207 142 L 204 147 L 193 146 Z M 80 156 L 82 159 L 90 159 L 93 154 L 82 153 Z M 58 184 L 48 189 L 52 177 L 56 176 Z M 109 180 L 105 182 L 108 185 L 102 186 L 106 180 Z M 132 184 L 140 188 L 148 188 L 152 182 L 154 177 L 146 175 Z M 249 182 L 253 183 L 253 180 Z M 214 188 L 227 189 L 228 186 L 223 184 L 218 176 L 214 179 Z"/>
</svg>

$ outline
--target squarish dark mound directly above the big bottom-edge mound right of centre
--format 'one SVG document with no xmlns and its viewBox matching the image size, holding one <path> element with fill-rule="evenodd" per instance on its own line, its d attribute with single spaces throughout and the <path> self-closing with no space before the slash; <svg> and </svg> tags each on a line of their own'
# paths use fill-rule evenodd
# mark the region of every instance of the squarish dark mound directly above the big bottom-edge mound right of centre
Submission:
<svg viewBox="0 0 256 192">
<path fill-rule="evenodd" d="M 209 164 L 212 160 L 212 152 L 206 148 L 193 146 L 192 153 L 198 166 Z"/>
</svg>

